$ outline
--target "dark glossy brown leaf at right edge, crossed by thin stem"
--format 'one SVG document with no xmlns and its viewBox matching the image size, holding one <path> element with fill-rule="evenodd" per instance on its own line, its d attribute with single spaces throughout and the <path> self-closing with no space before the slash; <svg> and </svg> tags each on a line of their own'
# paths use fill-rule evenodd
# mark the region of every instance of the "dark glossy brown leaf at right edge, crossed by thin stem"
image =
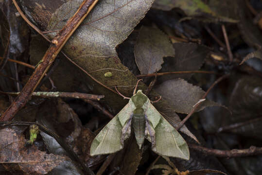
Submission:
<svg viewBox="0 0 262 175">
<path fill-rule="evenodd" d="M 262 139 L 262 120 L 255 120 L 260 118 L 262 113 L 261 94 L 261 78 L 245 76 L 237 81 L 230 97 L 233 115 L 229 118 L 229 124 L 243 124 L 230 132 Z"/>
</svg>

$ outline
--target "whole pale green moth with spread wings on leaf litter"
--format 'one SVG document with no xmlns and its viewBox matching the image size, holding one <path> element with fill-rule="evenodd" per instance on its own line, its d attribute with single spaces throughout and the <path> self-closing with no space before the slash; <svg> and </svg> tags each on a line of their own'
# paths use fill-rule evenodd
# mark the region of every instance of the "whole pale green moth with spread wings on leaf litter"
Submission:
<svg viewBox="0 0 262 175">
<path fill-rule="evenodd" d="M 124 140 L 131 135 L 131 127 L 140 149 L 146 138 L 152 143 L 152 150 L 159 155 L 189 159 L 186 141 L 161 116 L 141 90 L 130 98 L 128 104 L 95 137 L 90 155 L 110 154 L 121 150 Z"/>
</svg>

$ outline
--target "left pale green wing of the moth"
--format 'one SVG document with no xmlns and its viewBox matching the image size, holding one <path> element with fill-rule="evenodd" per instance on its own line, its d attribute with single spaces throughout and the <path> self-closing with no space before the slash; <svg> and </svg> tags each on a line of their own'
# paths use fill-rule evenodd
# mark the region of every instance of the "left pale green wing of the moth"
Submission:
<svg viewBox="0 0 262 175">
<path fill-rule="evenodd" d="M 130 101 L 122 110 L 98 133 L 90 147 L 90 155 L 115 153 L 123 148 L 121 144 L 122 128 L 134 110 Z M 123 123 L 123 124 L 122 124 Z M 125 139 L 129 137 L 127 135 Z"/>
</svg>

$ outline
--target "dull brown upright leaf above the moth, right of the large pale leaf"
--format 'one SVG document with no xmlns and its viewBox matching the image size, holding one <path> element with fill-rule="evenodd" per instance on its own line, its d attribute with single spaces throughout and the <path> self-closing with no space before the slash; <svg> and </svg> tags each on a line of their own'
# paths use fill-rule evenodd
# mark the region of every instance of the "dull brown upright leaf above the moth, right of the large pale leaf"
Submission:
<svg viewBox="0 0 262 175">
<path fill-rule="evenodd" d="M 159 29 L 142 26 L 134 54 L 141 74 L 149 74 L 160 70 L 163 57 L 174 56 L 175 49 L 168 36 Z"/>
</svg>

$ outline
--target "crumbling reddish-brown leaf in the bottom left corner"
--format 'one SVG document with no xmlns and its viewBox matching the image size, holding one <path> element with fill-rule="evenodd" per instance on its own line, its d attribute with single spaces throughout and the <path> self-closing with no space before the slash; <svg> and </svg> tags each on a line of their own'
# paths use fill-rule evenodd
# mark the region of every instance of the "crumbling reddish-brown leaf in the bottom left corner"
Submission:
<svg viewBox="0 0 262 175">
<path fill-rule="evenodd" d="M 14 129 L 0 129 L 0 161 L 9 171 L 30 175 L 47 174 L 68 159 L 65 156 L 41 152 L 35 145 L 25 147 L 25 143 L 24 136 Z M 12 166 L 14 164 L 16 169 Z"/>
</svg>

